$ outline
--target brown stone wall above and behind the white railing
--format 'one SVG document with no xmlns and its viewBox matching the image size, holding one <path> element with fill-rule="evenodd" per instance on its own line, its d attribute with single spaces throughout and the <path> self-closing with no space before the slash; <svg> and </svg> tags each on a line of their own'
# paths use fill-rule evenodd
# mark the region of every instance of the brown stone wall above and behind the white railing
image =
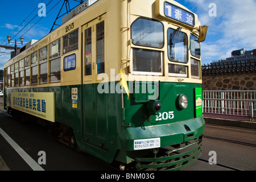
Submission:
<svg viewBox="0 0 256 182">
<path fill-rule="evenodd" d="M 203 75 L 203 90 L 256 90 L 256 72 Z"/>
</svg>

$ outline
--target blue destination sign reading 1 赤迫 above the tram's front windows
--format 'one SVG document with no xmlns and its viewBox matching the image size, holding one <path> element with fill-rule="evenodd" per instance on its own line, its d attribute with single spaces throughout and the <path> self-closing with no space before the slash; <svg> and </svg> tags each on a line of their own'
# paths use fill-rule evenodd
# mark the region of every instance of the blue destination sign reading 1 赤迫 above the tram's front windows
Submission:
<svg viewBox="0 0 256 182">
<path fill-rule="evenodd" d="M 195 15 L 169 2 L 164 2 L 164 15 L 189 26 L 195 26 Z"/>
</svg>

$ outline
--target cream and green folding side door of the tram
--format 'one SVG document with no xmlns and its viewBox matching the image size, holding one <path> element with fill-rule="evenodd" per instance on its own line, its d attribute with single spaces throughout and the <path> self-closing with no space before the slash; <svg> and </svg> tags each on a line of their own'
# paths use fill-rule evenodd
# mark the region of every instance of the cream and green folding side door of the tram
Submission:
<svg viewBox="0 0 256 182">
<path fill-rule="evenodd" d="M 98 76 L 105 73 L 104 15 L 82 27 L 83 140 L 108 148 L 106 94 L 97 90 Z"/>
</svg>

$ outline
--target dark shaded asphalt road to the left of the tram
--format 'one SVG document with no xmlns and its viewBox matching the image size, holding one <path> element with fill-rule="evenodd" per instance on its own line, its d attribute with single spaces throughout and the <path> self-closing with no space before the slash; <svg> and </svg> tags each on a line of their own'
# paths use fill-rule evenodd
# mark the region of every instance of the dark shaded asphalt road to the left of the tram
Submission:
<svg viewBox="0 0 256 182">
<path fill-rule="evenodd" d="M 14 127 L 15 126 L 15 127 Z M 40 165 L 45 171 L 109 171 L 114 170 L 100 160 L 77 152 L 53 140 L 34 127 L 15 121 L 0 112 L 0 128 L 5 131 L 35 162 L 40 151 L 45 152 L 46 164 Z M 13 147 L 0 135 L 0 155 L 11 171 L 31 171 L 32 168 L 20 157 Z"/>
</svg>

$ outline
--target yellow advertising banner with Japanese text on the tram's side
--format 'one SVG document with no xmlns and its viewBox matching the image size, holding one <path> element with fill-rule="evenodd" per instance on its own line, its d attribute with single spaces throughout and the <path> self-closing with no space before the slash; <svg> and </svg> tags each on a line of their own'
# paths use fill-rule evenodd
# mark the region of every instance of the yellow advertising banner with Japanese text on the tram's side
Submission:
<svg viewBox="0 0 256 182">
<path fill-rule="evenodd" d="M 11 92 L 11 107 L 55 122 L 54 92 Z"/>
</svg>

